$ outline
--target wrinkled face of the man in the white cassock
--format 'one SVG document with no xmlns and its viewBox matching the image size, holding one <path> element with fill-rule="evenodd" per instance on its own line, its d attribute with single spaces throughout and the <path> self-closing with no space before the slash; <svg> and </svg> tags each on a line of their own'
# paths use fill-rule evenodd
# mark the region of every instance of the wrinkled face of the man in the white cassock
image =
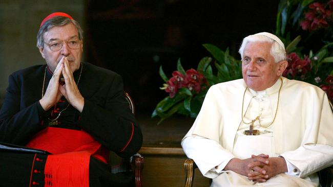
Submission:
<svg viewBox="0 0 333 187">
<path fill-rule="evenodd" d="M 273 86 L 287 65 L 286 61 L 275 63 L 270 55 L 271 46 L 268 42 L 248 42 L 244 48 L 243 79 L 253 90 L 261 91 Z"/>
</svg>

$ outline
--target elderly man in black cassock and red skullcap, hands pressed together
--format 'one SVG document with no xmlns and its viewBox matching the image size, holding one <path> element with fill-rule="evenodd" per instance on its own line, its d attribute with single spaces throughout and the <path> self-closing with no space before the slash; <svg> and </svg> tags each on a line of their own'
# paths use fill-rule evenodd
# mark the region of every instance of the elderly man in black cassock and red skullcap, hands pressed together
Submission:
<svg viewBox="0 0 333 187">
<path fill-rule="evenodd" d="M 9 76 L 0 142 L 51 154 L 1 150 L 1 185 L 131 185 L 111 174 L 107 163 L 110 150 L 129 157 L 140 149 L 140 127 L 124 98 L 122 78 L 81 62 L 82 39 L 70 15 L 50 14 L 37 34 L 46 64 Z"/>
</svg>

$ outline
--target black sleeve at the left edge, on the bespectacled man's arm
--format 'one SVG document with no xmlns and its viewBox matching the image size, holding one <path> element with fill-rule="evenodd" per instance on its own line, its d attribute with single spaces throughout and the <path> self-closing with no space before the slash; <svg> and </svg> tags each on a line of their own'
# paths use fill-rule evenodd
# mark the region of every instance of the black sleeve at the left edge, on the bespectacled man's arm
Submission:
<svg viewBox="0 0 333 187">
<path fill-rule="evenodd" d="M 0 110 L 0 142 L 24 146 L 35 133 L 43 129 L 39 116 L 44 110 L 38 109 L 41 107 L 39 101 L 20 108 L 22 97 L 30 96 L 22 96 L 21 85 L 16 80 L 12 75 L 9 76 L 9 86 Z"/>
</svg>

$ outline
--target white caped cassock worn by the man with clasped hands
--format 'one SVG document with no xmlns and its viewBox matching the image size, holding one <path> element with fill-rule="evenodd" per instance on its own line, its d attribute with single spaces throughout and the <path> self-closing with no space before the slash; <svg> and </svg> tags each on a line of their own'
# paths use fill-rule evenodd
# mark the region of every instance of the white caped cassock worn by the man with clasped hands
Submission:
<svg viewBox="0 0 333 187">
<path fill-rule="evenodd" d="M 279 105 L 278 92 L 281 85 Z M 212 186 L 317 186 L 316 172 L 333 165 L 333 113 L 317 86 L 281 77 L 263 91 L 247 89 L 243 79 L 213 85 L 182 147 Z M 257 116 L 260 135 L 244 135 Z M 277 111 L 276 111 L 277 109 Z M 272 125 L 275 113 L 276 118 Z M 267 127 L 268 126 L 268 127 Z M 223 168 L 234 157 L 282 156 L 288 172 L 256 183 Z"/>
</svg>

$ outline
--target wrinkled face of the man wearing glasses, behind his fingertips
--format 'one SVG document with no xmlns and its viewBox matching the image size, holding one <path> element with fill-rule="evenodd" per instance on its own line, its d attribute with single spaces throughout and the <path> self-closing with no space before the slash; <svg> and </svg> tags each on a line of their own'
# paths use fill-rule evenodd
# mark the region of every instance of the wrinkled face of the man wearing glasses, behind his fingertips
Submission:
<svg viewBox="0 0 333 187">
<path fill-rule="evenodd" d="M 54 72 L 55 67 L 59 63 L 60 59 L 67 57 L 69 66 L 72 72 L 75 72 L 80 67 L 82 57 L 82 42 L 78 49 L 70 49 L 67 42 L 63 43 L 63 47 L 59 51 L 52 51 L 47 45 L 50 41 L 54 40 L 70 40 L 78 38 L 78 31 L 73 24 L 67 24 L 65 26 L 53 27 L 44 33 L 44 49 L 39 49 L 39 52 L 46 63 Z"/>
</svg>

